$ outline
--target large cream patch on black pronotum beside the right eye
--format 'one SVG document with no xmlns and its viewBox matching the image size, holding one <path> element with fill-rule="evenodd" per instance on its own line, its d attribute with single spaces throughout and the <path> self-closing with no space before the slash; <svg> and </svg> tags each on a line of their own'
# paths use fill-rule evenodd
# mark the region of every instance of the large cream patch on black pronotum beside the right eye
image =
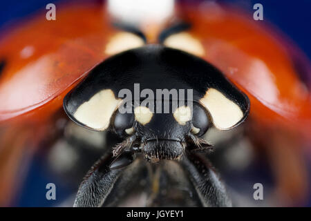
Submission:
<svg viewBox="0 0 311 221">
<path fill-rule="evenodd" d="M 216 128 L 228 130 L 243 119 L 241 108 L 214 88 L 209 88 L 200 102 L 207 108 Z"/>
</svg>

